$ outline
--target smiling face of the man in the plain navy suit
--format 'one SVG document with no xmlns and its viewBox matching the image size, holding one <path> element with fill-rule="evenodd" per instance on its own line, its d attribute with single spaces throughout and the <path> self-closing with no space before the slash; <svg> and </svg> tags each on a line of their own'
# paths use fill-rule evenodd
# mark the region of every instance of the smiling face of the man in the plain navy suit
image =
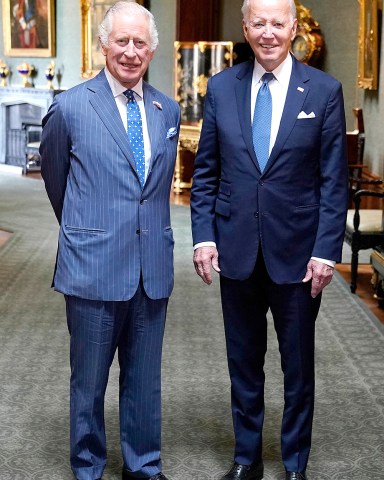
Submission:
<svg viewBox="0 0 384 480">
<path fill-rule="evenodd" d="M 253 0 L 243 20 L 244 35 L 256 60 L 269 72 L 287 58 L 296 27 L 287 0 Z"/>
</svg>

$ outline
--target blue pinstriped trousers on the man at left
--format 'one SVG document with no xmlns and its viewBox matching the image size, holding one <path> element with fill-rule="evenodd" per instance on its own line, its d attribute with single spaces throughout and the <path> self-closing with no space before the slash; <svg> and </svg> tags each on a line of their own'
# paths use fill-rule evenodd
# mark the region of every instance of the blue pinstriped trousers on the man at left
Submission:
<svg viewBox="0 0 384 480">
<path fill-rule="evenodd" d="M 125 468 L 137 477 L 161 471 L 161 354 L 168 299 L 141 285 L 129 301 L 66 296 L 70 333 L 70 455 L 79 480 L 106 465 L 104 397 L 116 350 L 120 365 L 120 441 Z"/>
</svg>

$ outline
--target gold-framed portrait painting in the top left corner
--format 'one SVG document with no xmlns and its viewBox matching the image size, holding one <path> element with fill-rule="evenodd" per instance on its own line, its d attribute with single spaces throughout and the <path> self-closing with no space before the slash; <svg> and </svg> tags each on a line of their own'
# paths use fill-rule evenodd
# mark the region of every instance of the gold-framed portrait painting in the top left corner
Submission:
<svg viewBox="0 0 384 480">
<path fill-rule="evenodd" d="M 2 0 L 4 54 L 55 56 L 54 0 Z"/>
</svg>

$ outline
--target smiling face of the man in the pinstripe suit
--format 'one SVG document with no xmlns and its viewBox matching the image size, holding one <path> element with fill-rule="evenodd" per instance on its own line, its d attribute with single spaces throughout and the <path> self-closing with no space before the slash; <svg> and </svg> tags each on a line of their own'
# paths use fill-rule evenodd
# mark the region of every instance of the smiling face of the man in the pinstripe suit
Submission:
<svg viewBox="0 0 384 480">
<path fill-rule="evenodd" d="M 112 19 L 112 31 L 107 46 L 101 46 L 111 74 L 122 85 L 133 88 L 144 76 L 155 52 L 150 52 L 147 18 L 125 12 Z"/>
</svg>

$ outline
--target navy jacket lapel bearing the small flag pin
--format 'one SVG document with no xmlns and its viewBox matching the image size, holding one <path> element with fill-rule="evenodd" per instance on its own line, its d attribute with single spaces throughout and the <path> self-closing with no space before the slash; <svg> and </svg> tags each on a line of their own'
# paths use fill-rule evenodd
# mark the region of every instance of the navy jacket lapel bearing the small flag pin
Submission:
<svg viewBox="0 0 384 480">
<path fill-rule="evenodd" d="M 287 98 L 285 100 L 279 131 L 264 172 L 267 171 L 278 158 L 284 143 L 292 132 L 297 116 L 301 112 L 304 101 L 309 92 L 308 82 L 309 77 L 306 69 L 300 62 L 293 58 L 292 74 L 289 81 Z"/>
</svg>

